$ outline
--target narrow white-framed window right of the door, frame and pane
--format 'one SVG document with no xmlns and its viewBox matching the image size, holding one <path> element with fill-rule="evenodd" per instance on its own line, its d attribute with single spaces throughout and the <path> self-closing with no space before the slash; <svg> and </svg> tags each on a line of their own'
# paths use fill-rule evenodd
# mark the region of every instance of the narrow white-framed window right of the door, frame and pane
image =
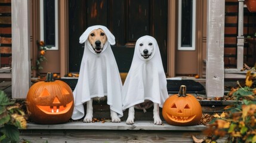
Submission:
<svg viewBox="0 0 256 143">
<path fill-rule="evenodd" d="M 196 0 L 178 1 L 178 50 L 193 51 L 196 31 Z"/>
</svg>

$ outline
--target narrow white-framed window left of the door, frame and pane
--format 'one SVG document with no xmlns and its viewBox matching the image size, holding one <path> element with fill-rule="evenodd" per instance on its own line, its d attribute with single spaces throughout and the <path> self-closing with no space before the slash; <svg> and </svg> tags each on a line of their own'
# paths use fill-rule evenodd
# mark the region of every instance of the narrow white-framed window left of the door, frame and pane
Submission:
<svg viewBox="0 0 256 143">
<path fill-rule="evenodd" d="M 58 0 L 40 0 L 40 40 L 58 49 Z"/>
</svg>

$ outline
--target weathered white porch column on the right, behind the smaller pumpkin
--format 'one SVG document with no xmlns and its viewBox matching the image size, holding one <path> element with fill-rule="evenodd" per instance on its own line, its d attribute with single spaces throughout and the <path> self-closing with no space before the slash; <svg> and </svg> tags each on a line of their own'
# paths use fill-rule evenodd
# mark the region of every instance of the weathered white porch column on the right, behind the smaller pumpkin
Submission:
<svg viewBox="0 0 256 143">
<path fill-rule="evenodd" d="M 206 94 L 223 97 L 225 1 L 208 0 L 207 5 Z"/>
</svg>

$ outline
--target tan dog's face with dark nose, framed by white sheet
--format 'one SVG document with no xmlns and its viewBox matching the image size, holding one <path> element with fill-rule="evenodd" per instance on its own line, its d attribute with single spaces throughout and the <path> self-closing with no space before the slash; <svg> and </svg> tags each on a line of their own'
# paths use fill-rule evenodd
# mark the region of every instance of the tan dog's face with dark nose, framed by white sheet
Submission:
<svg viewBox="0 0 256 143">
<path fill-rule="evenodd" d="M 103 50 L 104 44 L 107 41 L 107 36 L 102 29 L 94 29 L 88 37 L 92 48 L 97 54 L 100 54 Z"/>
</svg>

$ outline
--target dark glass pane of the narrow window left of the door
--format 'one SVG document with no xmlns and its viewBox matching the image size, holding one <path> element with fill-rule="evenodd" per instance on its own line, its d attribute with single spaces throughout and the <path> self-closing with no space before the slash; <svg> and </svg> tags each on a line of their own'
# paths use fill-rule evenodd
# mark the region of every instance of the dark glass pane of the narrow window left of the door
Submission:
<svg viewBox="0 0 256 143">
<path fill-rule="evenodd" d="M 55 1 L 44 0 L 44 42 L 55 46 Z"/>
</svg>

